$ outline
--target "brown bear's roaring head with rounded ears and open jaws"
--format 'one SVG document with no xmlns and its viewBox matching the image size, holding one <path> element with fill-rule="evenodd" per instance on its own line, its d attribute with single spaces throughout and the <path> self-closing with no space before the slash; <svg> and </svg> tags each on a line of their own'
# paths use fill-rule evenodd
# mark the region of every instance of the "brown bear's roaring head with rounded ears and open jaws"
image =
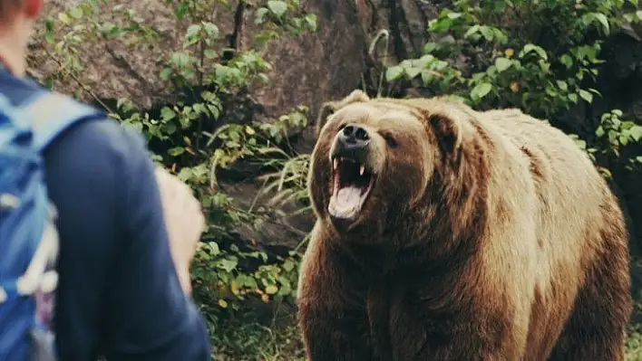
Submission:
<svg viewBox="0 0 642 361">
<path fill-rule="evenodd" d="M 316 215 L 338 233 L 374 235 L 435 212 L 434 192 L 447 189 L 433 185 L 459 173 L 469 117 L 452 101 L 369 99 L 361 90 L 326 103 L 308 178 Z"/>
</svg>

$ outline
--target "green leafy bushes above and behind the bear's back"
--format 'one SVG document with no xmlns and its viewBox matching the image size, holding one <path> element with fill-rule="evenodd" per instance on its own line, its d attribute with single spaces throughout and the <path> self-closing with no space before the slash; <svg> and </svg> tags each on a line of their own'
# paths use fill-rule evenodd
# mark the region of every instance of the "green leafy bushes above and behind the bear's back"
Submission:
<svg viewBox="0 0 642 361">
<path fill-rule="evenodd" d="M 604 62 L 599 58 L 604 37 L 642 19 L 637 1 L 482 4 L 459 0 L 443 9 L 429 24 L 433 41 L 425 44 L 422 56 L 386 69 L 389 90 L 419 84 L 476 109 L 516 107 L 555 125 L 564 111 L 601 96 L 594 87 Z M 639 169 L 642 157 L 619 159 L 623 148 L 642 140 L 642 128 L 622 116 L 618 109 L 605 113 L 595 139 L 569 136 L 596 162 L 599 154 Z M 600 170 L 610 176 L 607 168 Z"/>
</svg>

